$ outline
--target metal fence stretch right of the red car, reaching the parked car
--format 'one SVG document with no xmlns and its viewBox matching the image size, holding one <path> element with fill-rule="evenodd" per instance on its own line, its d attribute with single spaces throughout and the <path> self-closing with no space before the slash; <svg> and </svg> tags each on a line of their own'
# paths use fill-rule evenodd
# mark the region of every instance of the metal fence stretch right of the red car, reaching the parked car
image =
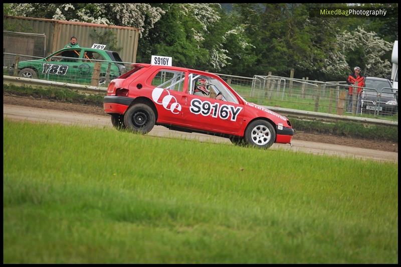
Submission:
<svg viewBox="0 0 401 267">
<path fill-rule="evenodd" d="M 272 75 L 255 75 L 252 79 L 259 82 L 252 84 L 245 98 L 257 104 L 339 115 L 398 118 L 397 95 L 391 88 L 378 91 L 364 87 L 359 93 L 357 86 L 345 81 L 322 82 Z M 349 87 L 351 93 L 348 93 Z M 371 112 L 372 105 L 376 106 L 376 112 Z"/>
</svg>

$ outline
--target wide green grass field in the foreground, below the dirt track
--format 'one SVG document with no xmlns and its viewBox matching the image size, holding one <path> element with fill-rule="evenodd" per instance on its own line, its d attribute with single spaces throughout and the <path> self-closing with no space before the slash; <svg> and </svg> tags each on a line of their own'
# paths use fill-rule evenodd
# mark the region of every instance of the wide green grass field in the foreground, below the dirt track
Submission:
<svg viewBox="0 0 401 267">
<path fill-rule="evenodd" d="M 396 263 L 397 164 L 4 120 L 4 263 Z"/>
</svg>

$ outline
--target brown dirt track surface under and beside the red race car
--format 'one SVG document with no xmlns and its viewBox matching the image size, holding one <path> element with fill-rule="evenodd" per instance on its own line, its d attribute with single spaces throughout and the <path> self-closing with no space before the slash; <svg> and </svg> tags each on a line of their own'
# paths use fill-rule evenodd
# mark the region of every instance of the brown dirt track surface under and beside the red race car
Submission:
<svg viewBox="0 0 401 267">
<path fill-rule="evenodd" d="M 54 102 L 32 97 L 4 95 L 3 116 L 15 120 L 28 119 L 32 121 L 112 127 L 110 116 L 104 113 L 102 107 Z M 231 144 L 225 138 L 202 135 L 200 133 L 172 131 L 163 126 L 155 126 L 148 135 Z M 296 131 L 292 145 L 293 147 L 274 144 L 271 149 L 398 162 L 398 144 L 391 142 L 376 142 Z"/>
</svg>

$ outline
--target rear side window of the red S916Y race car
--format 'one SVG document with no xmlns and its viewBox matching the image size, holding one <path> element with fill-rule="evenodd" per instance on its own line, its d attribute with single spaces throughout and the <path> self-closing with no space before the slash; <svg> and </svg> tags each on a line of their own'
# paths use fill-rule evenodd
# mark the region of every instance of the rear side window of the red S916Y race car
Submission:
<svg viewBox="0 0 401 267">
<path fill-rule="evenodd" d="M 152 85 L 158 88 L 182 92 L 185 73 L 174 70 L 159 70 L 152 79 Z"/>
</svg>

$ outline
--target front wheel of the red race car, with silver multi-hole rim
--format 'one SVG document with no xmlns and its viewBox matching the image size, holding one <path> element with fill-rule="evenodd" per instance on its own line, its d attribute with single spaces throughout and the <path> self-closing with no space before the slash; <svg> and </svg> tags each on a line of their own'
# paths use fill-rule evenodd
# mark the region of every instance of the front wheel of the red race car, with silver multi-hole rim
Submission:
<svg viewBox="0 0 401 267">
<path fill-rule="evenodd" d="M 244 139 L 250 146 L 268 149 L 276 141 L 276 130 L 270 122 L 257 119 L 248 125 Z"/>
</svg>

